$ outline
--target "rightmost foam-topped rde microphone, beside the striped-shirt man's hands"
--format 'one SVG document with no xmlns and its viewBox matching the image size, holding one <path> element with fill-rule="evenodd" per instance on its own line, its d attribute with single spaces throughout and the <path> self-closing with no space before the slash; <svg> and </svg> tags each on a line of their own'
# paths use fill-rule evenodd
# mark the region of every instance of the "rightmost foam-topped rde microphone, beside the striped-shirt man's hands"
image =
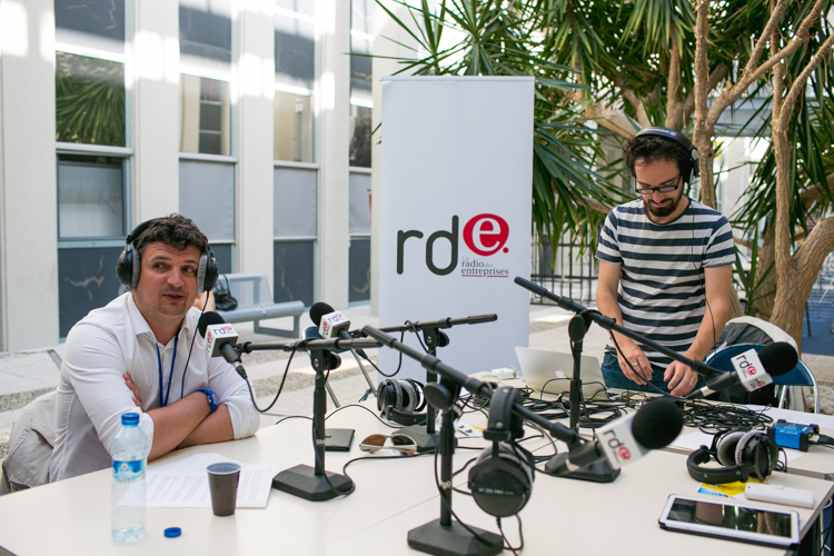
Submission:
<svg viewBox="0 0 834 556">
<path fill-rule="evenodd" d="M 748 349 L 729 358 L 733 370 L 719 374 L 707 381 L 706 386 L 686 396 L 686 399 L 701 399 L 736 385 L 747 391 L 757 390 L 772 384 L 772 377 L 790 373 L 798 360 L 796 350 L 786 341 L 767 344 L 758 354 L 755 349 Z"/>
</svg>

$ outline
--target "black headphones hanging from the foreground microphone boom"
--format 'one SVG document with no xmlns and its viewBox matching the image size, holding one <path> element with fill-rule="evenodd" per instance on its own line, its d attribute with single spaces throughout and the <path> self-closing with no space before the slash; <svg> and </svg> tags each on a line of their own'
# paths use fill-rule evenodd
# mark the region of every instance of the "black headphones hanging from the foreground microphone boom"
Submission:
<svg viewBox="0 0 834 556">
<path fill-rule="evenodd" d="M 469 490 L 480 509 L 495 517 L 518 514 L 533 490 L 535 460 L 533 454 L 515 440 L 524 435 L 522 418 L 513 414 L 520 403 L 522 390 L 497 388 L 489 401 L 489 421 L 484 438 L 493 447 L 478 455 L 469 470 Z"/>
</svg>

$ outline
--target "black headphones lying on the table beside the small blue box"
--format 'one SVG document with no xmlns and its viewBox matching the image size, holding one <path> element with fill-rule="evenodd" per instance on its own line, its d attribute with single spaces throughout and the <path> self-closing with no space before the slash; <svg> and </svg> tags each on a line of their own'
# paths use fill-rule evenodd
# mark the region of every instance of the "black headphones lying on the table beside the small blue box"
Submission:
<svg viewBox="0 0 834 556">
<path fill-rule="evenodd" d="M 713 437 L 712 447 L 702 446 L 689 454 L 686 469 L 699 483 L 765 480 L 778 463 L 780 447 L 762 430 L 724 430 Z M 725 467 L 702 467 L 715 458 Z"/>
</svg>

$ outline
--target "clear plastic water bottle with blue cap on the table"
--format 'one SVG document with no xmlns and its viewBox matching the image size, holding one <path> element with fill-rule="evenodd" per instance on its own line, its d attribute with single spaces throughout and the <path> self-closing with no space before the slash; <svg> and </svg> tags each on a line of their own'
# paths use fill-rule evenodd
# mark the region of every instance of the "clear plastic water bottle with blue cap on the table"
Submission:
<svg viewBox="0 0 834 556">
<path fill-rule="evenodd" d="M 131 543 L 145 536 L 145 467 L 148 439 L 139 428 L 139 414 L 123 414 L 113 438 L 113 487 L 110 523 L 113 539 Z"/>
</svg>

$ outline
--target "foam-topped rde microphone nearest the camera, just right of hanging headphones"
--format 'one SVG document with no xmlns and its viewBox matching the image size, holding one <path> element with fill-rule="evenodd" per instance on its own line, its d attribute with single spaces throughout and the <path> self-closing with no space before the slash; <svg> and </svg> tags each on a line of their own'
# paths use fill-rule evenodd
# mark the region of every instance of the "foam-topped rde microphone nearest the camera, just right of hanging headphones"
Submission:
<svg viewBox="0 0 834 556">
<path fill-rule="evenodd" d="M 668 398 L 655 398 L 638 411 L 598 427 L 594 443 L 577 448 L 575 454 L 568 453 L 568 458 L 556 469 L 548 469 L 548 473 L 562 475 L 575 471 L 602 458 L 607 459 L 613 469 L 619 469 L 649 450 L 668 446 L 683 427 L 684 414 L 681 408 Z M 593 453 L 596 458 L 592 457 Z"/>
</svg>

